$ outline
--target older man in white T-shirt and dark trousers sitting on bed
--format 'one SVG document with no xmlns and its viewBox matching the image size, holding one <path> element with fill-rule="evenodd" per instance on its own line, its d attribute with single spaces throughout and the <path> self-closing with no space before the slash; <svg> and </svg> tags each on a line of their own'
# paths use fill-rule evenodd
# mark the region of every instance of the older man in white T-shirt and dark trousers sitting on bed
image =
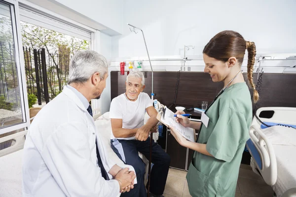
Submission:
<svg viewBox="0 0 296 197">
<path fill-rule="evenodd" d="M 138 156 L 138 151 L 149 158 L 149 133 L 156 130 L 158 123 L 157 111 L 152 106 L 148 94 L 143 93 L 145 78 L 143 72 L 131 72 L 126 79 L 126 92 L 114 98 L 110 107 L 112 125 L 111 146 L 117 156 L 125 163 L 135 168 L 138 184 L 123 197 L 146 197 L 144 185 L 145 164 Z M 145 111 L 150 118 L 144 125 Z M 150 197 L 160 197 L 163 194 L 170 157 L 153 141 L 150 179 Z"/>
</svg>

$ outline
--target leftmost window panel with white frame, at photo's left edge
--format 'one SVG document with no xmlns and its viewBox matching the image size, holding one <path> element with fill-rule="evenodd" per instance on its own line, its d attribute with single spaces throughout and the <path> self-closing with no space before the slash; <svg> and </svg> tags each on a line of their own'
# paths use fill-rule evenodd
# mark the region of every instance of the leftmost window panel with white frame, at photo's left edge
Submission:
<svg viewBox="0 0 296 197">
<path fill-rule="evenodd" d="M 27 127 L 16 30 L 15 5 L 0 0 L 0 134 Z"/>
</svg>

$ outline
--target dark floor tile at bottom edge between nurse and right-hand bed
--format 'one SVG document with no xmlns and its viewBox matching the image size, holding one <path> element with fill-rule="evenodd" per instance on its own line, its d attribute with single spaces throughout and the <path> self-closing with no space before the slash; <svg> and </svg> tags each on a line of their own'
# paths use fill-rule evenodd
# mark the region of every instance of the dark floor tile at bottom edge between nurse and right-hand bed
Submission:
<svg viewBox="0 0 296 197">
<path fill-rule="evenodd" d="M 241 194 L 251 197 L 272 197 L 273 190 L 264 181 L 238 177 L 238 185 Z"/>
</svg>

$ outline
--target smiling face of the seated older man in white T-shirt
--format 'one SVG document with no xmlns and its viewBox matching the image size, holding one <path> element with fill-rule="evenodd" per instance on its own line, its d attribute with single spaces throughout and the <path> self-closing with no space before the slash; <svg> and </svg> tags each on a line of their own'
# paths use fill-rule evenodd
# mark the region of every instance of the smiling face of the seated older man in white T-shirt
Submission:
<svg viewBox="0 0 296 197">
<path fill-rule="evenodd" d="M 138 99 L 139 94 L 144 90 L 145 85 L 142 86 L 142 79 L 130 77 L 125 82 L 126 96 L 129 100 L 135 101 Z"/>
</svg>

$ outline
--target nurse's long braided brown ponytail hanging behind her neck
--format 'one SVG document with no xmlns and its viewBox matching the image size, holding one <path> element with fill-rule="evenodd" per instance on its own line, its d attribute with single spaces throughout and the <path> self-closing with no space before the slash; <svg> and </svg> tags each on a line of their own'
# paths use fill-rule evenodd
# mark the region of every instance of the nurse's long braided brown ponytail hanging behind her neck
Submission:
<svg viewBox="0 0 296 197">
<path fill-rule="evenodd" d="M 253 82 L 253 68 L 256 57 L 256 46 L 254 42 L 246 41 L 246 43 L 248 50 L 248 80 L 250 82 L 251 88 L 253 89 L 253 101 L 256 103 L 259 99 L 259 94 Z"/>
</svg>

